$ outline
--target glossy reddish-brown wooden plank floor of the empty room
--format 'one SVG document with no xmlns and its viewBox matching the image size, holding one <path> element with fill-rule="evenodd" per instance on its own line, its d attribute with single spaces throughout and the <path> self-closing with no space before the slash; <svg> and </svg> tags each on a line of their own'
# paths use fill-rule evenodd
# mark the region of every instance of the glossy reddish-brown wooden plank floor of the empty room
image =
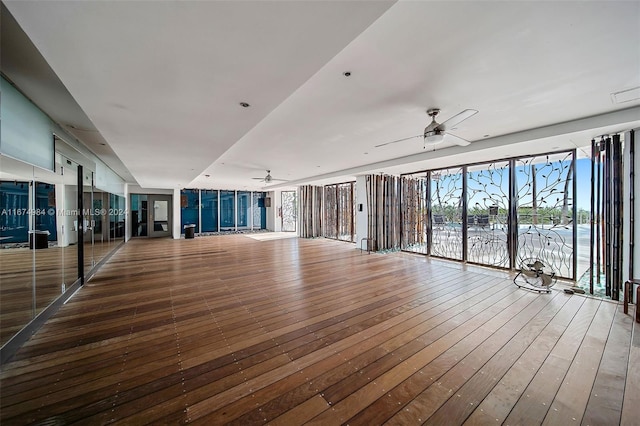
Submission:
<svg viewBox="0 0 640 426">
<path fill-rule="evenodd" d="M 332 240 L 136 240 L 2 366 L 0 423 L 638 425 L 631 318 Z"/>
</svg>

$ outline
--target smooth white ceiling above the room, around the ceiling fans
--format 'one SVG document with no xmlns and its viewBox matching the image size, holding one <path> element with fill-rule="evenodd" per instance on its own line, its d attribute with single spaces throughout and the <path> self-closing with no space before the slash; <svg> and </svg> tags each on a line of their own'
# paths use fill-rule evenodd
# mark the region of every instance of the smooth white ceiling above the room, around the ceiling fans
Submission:
<svg viewBox="0 0 640 426">
<path fill-rule="evenodd" d="M 62 89 L 7 64 L 6 37 L 3 73 L 143 187 L 339 182 L 640 127 L 640 99 L 611 96 L 640 86 L 638 1 L 4 3 Z M 432 107 L 478 110 L 452 131 L 472 144 L 374 148 Z"/>
</svg>

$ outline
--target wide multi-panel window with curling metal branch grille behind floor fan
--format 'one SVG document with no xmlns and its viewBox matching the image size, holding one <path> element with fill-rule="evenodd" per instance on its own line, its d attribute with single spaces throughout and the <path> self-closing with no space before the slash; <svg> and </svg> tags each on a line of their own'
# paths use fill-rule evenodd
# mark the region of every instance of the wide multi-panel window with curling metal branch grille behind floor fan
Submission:
<svg viewBox="0 0 640 426">
<path fill-rule="evenodd" d="M 402 248 L 575 279 L 575 168 L 570 151 L 404 175 Z"/>
</svg>

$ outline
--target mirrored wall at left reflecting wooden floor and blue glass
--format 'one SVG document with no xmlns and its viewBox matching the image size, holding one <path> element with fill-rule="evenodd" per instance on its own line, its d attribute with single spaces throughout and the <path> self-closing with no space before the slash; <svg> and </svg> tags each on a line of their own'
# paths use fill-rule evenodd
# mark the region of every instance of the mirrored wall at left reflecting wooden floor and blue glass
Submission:
<svg viewBox="0 0 640 426">
<path fill-rule="evenodd" d="M 54 171 L 6 156 L 0 161 L 0 345 L 4 345 L 124 241 L 124 198 L 97 189 L 94 171 L 60 153 L 55 155 Z"/>
</svg>

